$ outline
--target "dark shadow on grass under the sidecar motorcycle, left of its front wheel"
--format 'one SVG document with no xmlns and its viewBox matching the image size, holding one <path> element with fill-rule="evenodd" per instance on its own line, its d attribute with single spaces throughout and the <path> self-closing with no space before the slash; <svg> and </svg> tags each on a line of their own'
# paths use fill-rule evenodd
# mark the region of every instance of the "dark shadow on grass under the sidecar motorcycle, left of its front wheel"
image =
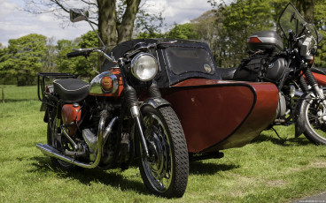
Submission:
<svg viewBox="0 0 326 203">
<path fill-rule="evenodd" d="M 142 181 L 136 181 L 123 177 L 117 169 L 112 170 L 101 170 L 101 169 L 74 169 L 74 170 L 60 170 L 52 167 L 49 157 L 33 157 L 30 160 L 35 162 L 32 165 L 35 169 L 30 170 L 32 173 L 47 173 L 55 171 L 58 177 L 62 178 L 74 178 L 80 183 L 90 185 L 92 183 L 101 183 L 114 188 L 120 189 L 121 191 L 134 191 L 149 195 L 150 193 L 145 189 Z M 139 175 L 140 177 L 140 175 Z"/>
</svg>

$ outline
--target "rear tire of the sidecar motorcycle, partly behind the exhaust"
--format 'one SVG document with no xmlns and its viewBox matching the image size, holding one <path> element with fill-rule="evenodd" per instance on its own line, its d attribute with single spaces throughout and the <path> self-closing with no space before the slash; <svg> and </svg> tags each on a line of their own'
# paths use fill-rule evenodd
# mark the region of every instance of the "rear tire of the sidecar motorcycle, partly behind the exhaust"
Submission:
<svg viewBox="0 0 326 203">
<path fill-rule="evenodd" d="M 57 139 L 56 139 L 55 135 L 58 133 L 61 133 L 61 130 L 57 126 L 57 114 L 56 113 L 57 112 L 55 109 L 52 110 L 52 112 L 50 113 L 50 119 L 49 119 L 48 128 L 47 128 L 47 141 L 48 141 L 48 145 L 50 145 L 51 147 L 54 147 L 54 148 L 58 149 L 59 151 L 63 151 L 63 149 L 65 147 L 68 147 L 68 144 L 65 144 L 64 147 L 58 147 L 58 145 L 57 145 Z M 64 136 L 62 136 L 62 139 L 66 139 L 66 138 L 64 138 Z M 63 170 L 75 169 L 75 166 L 71 163 L 64 162 L 64 161 L 58 160 L 53 157 L 50 157 L 50 160 L 51 160 L 53 166 L 58 169 L 63 169 Z"/>
</svg>

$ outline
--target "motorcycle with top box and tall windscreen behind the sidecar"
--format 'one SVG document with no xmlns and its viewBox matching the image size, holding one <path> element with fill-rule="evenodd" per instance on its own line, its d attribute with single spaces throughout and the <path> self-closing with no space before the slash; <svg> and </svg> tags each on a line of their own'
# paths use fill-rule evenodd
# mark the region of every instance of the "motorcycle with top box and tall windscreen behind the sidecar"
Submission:
<svg viewBox="0 0 326 203">
<path fill-rule="evenodd" d="M 326 77 L 313 68 L 322 36 L 292 4 L 286 6 L 278 23 L 288 48 L 283 49 L 283 40 L 274 31 L 252 34 L 247 41 L 252 56 L 236 69 L 221 70 L 222 79 L 276 84 L 279 104 L 273 124 L 295 123 L 296 136 L 304 133 L 314 143 L 326 144 L 326 101 L 321 87 Z"/>
</svg>

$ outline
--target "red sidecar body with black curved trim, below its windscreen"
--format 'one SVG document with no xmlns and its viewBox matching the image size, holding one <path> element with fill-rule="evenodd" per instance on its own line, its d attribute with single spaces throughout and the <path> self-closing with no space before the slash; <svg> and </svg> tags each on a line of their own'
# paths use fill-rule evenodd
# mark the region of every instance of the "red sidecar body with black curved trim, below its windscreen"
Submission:
<svg viewBox="0 0 326 203">
<path fill-rule="evenodd" d="M 243 147 L 273 122 L 272 83 L 187 79 L 161 89 L 179 117 L 190 153 Z"/>
</svg>

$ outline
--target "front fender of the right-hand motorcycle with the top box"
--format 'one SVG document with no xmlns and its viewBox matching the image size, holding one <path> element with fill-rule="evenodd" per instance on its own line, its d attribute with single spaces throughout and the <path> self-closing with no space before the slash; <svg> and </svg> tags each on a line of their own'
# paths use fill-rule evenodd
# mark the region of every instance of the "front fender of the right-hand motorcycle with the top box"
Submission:
<svg viewBox="0 0 326 203">
<path fill-rule="evenodd" d="M 308 102 L 307 100 L 311 98 L 311 94 L 313 94 L 312 91 L 308 91 L 305 94 L 302 94 L 302 96 L 299 99 L 299 102 L 296 107 L 296 113 L 295 113 L 295 137 L 298 138 L 303 132 L 305 132 L 305 109 L 304 104 L 305 102 Z"/>
</svg>

